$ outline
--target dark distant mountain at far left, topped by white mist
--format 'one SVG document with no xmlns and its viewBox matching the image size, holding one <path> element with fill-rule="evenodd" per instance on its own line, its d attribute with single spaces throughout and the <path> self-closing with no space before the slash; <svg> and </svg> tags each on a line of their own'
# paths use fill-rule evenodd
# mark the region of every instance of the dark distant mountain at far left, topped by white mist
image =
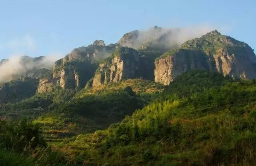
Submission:
<svg viewBox="0 0 256 166">
<path fill-rule="evenodd" d="M 39 79 L 52 71 L 44 56 L 22 56 L 0 62 L 0 104 L 17 102 L 36 94 Z M 47 67 L 47 68 L 46 68 Z"/>
</svg>

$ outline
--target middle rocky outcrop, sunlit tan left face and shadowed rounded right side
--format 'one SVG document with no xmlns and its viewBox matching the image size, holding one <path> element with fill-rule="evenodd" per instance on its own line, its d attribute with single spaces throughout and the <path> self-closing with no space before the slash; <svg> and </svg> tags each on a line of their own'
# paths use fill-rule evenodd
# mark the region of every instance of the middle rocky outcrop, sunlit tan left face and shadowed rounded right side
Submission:
<svg viewBox="0 0 256 166">
<path fill-rule="evenodd" d="M 92 86 L 138 77 L 140 61 L 138 51 L 129 47 L 117 48 L 96 70 Z"/>
</svg>

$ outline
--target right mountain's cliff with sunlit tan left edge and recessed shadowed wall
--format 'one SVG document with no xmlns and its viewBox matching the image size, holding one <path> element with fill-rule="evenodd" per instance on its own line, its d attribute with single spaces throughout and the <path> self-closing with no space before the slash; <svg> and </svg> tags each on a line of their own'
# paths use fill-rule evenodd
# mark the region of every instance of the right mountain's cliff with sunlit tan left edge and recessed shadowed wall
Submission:
<svg viewBox="0 0 256 166">
<path fill-rule="evenodd" d="M 177 49 L 155 61 L 155 81 L 169 85 L 178 75 L 193 69 L 214 71 L 212 59 L 200 51 Z"/>
</svg>

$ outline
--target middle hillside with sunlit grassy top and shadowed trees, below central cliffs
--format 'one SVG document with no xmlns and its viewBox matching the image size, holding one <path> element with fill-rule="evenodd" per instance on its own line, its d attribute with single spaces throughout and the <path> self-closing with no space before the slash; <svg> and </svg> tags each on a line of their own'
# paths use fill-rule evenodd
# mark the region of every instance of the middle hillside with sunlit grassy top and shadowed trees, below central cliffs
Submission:
<svg viewBox="0 0 256 166">
<path fill-rule="evenodd" d="M 136 94 L 127 93 L 127 86 L 132 87 Z M 162 90 L 162 85 L 143 79 L 82 89 L 73 101 L 60 104 L 53 112 L 42 113 L 34 123 L 42 125 L 49 144 L 62 146 L 63 142 L 77 134 L 108 128 L 110 124 L 122 121 L 125 115 L 146 105 Z M 130 108 L 127 107 L 129 104 L 132 104 Z"/>
</svg>

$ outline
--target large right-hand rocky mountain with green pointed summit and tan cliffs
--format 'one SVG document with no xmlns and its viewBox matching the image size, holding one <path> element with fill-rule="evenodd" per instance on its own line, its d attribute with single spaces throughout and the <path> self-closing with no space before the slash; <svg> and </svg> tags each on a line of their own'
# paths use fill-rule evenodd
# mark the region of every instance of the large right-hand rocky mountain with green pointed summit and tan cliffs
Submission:
<svg viewBox="0 0 256 166">
<path fill-rule="evenodd" d="M 186 41 L 181 49 L 164 53 L 155 61 L 155 81 L 164 85 L 190 69 L 218 71 L 224 76 L 256 77 L 256 57 L 251 47 L 214 30 Z"/>
</svg>

